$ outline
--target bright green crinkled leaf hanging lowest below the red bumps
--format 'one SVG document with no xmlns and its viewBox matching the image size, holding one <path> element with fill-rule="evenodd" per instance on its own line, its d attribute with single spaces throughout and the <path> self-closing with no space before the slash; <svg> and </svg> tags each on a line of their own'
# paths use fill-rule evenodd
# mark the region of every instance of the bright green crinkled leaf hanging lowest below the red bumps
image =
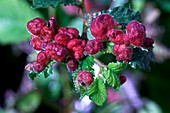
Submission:
<svg viewBox="0 0 170 113">
<path fill-rule="evenodd" d="M 96 78 L 94 83 L 96 84 L 95 87 L 96 93 L 91 94 L 89 97 L 98 106 L 102 106 L 103 103 L 106 101 L 106 97 L 107 97 L 106 86 L 103 83 L 103 81 L 99 78 Z"/>
</svg>

